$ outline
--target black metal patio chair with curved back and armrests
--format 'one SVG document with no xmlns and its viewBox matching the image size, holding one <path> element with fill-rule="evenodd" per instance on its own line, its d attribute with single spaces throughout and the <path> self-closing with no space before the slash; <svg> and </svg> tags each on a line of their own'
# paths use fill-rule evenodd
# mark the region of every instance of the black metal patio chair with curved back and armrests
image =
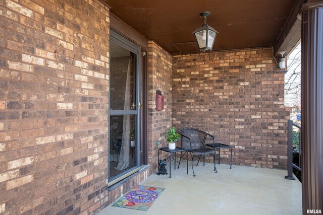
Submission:
<svg viewBox="0 0 323 215">
<path fill-rule="evenodd" d="M 216 168 L 216 150 L 213 148 L 205 148 L 205 144 L 214 144 L 214 136 L 204 131 L 194 129 L 194 128 L 183 128 L 178 129 L 177 133 L 181 135 L 181 147 L 187 150 L 187 153 L 192 154 L 192 170 L 193 176 L 195 176 L 194 168 L 193 168 L 193 159 L 194 156 L 199 156 L 199 160 L 201 156 L 203 156 L 203 166 L 205 165 L 205 155 L 213 154 L 213 163 L 214 163 L 214 171 L 217 171 Z M 185 152 L 186 153 L 186 152 Z M 182 155 L 178 167 L 181 164 L 181 159 L 185 155 Z M 198 163 L 196 164 L 198 165 Z"/>
</svg>

